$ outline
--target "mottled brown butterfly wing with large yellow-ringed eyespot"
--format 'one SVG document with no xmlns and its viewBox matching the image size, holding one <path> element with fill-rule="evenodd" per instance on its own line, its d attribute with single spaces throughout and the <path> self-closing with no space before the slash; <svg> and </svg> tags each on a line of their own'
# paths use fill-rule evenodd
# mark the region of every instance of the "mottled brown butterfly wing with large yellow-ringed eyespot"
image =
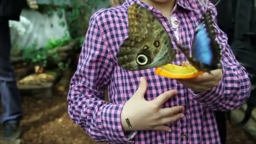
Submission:
<svg viewBox="0 0 256 144">
<path fill-rule="evenodd" d="M 128 38 L 117 52 L 117 64 L 128 70 L 160 67 L 173 61 L 176 51 L 160 21 L 134 3 L 128 10 Z"/>
</svg>

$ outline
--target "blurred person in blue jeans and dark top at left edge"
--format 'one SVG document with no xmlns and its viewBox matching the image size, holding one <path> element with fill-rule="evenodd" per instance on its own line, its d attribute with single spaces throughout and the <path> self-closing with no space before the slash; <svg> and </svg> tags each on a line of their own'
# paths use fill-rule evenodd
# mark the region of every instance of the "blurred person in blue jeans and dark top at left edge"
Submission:
<svg viewBox="0 0 256 144">
<path fill-rule="evenodd" d="M 31 0 L 28 4 L 30 8 L 35 7 Z M 3 114 L 0 117 L 3 136 L 0 141 L 13 141 L 21 134 L 21 97 L 10 61 L 9 20 L 19 21 L 21 10 L 25 6 L 26 0 L 0 0 L 0 96 L 3 107 Z"/>
</svg>

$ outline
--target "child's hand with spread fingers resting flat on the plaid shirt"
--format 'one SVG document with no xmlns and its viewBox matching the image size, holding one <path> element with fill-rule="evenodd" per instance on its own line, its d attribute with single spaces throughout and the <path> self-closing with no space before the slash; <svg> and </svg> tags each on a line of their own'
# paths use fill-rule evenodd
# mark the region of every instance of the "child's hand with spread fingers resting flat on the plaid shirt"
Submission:
<svg viewBox="0 0 256 144">
<path fill-rule="evenodd" d="M 176 90 L 166 91 L 152 101 L 146 101 L 144 94 L 147 90 L 147 81 L 141 77 L 140 85 L 136 93 L 129 99 L 124 107 L 126 116 L 131 122 L 132 131 L 139 130 L 157 130 L 171 131 L 171 128 L 165 124 L 170 124 L 179 120 L 184 115 L 183 106 L 162 108 L 162 105 L 177 94 Z M 125 116 L 122 111 L 121 121 L 124 131 L 131 131 L 128 127 Z"/>
</svg>

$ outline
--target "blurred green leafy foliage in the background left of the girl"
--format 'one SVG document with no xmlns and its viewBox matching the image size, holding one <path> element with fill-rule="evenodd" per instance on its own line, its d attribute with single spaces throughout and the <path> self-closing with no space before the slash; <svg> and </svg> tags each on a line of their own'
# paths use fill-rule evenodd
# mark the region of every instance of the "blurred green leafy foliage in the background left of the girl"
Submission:
<svg viewBox="0 0 256 144">
<path fill-rule="evenodd" d="M 106 0 L 71 0 L 71 5 L 64 3 L 62 5 L 56 6 L 54 0 L 51 0 L 49 5 L 40 5 L 40 12 L 47 13 L 48 16 L 53 15 L 56 11 L 59 17 L 64 16 L 63 11 L 65 11 L 65 16 L 68 24 L 68 31 L 72 39 L 78 39 L 79 44 L 77 47 L 81 48 L 83 46 L 85 32 L 88 29 L 88 22 L 92 13 L 96 10 L 99 3 L 103 3 Z M 60 26 L 65 26 L 64 21 L 59 21 Z M 49 54 L 49 51 L 59 48 L 63 45 L 67 45 L 71 40 L 70 37 L 63 37 L 61 39 L 50 40 L 45 47 L 40 49 L 35 49 L 37 42 L 30 45 L 22 51 L 22 57 L 29 63 L 38 64 L 41 67 L 47 67 L 48 61 L 54 59 L 57 61 L 57 65 L 60 69 L 66 69 L 69 67 L 70 61 L 64 63 L 61 61 L 60 56 L 55 54 Z"/>
</svg>

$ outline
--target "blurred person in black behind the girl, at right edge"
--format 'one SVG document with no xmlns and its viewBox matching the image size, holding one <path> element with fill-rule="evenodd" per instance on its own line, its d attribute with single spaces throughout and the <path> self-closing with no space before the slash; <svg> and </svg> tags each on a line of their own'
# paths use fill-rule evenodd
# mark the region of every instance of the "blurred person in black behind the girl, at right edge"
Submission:
<svg viewBox="0 0 256 144">
<path fill-rule="evenodd" d="M 254 61 L 256 48 L 255 46 L 253 47 L 248 35 L 245 35 L 246 33 L 256 34 L 254 15 L 255 0 L 246 0 L 246 3 L 244 0 L 221 0 L 216 8 L 218 11 L 217 20 L 220 29 L 227 34 L 228 44 L 231 45 L 237 60 L 240 61 L 248 71 L 252 84 L 255 83 L 255 80 L 253 80 L 255 76 L 252 76 L 256 74 L 256 64 L 250 62 L 250 59 Z M 255 103 L 253 95 L 255 95 L 255 90 L 252 90 L 248 102 Z M 248 105 L 253 107 L 255 104 Z M 250 109 L 252 108 L 248 110 Z M 226 112 L 215 111 L 215 115 L 219 127 L 221 143 L 226 144 Z M 246 120 L 243 123 L 245 122 Z"/>
</svg>

